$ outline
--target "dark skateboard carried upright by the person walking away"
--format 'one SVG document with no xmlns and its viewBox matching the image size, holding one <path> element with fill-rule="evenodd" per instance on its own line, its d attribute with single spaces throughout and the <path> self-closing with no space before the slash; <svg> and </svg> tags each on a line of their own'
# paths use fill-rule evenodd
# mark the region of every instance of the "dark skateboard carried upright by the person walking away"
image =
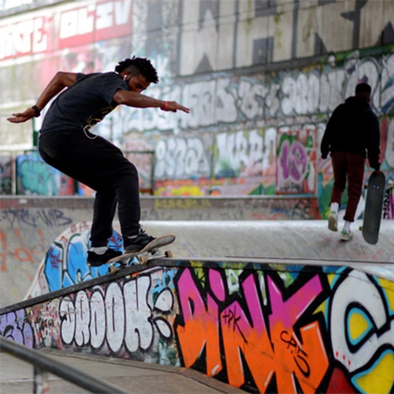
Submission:
<svg viewBox="0 0 394 394">
<path fill-rule="evenodd" d="M 366 200 L 362 219 L 362 236 L 366 242 L 372 245 L 376 244 L 379 238 L 385 184 L 385 174 L 374 171 L 365 185 Z"/>
</svg>

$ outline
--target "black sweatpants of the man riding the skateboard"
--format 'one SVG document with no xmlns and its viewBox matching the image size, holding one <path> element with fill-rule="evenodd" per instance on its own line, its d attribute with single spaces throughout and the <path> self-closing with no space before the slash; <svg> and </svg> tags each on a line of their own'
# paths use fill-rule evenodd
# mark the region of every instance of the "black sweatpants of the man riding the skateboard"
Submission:
<svg viewBox="0 0 394 394">
<path fill-rule="evenodd" d="M 96 191 L 92 246 L 107 244 L 117 203 L 122 236 L 138 232 L 138 172 L 119 148 L 82 130 L 47 131 L 39 137 L 38 152 L 47 164 Z"/>
</svg>

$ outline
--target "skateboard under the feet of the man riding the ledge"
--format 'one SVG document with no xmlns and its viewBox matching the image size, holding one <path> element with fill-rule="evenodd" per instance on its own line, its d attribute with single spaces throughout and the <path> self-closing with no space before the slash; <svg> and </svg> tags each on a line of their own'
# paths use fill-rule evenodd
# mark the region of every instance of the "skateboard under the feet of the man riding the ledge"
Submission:
<svg viewBox="0 0 394 394">
<path fill-rule="evenodd" d="M 114 274 L 119 269 L 128 267 L 129 265 L 131 265 L 131 262 L 134 258 L 136 258 L 138 263 L 146 264 L 152 258 L 172 257 L 172 252 L 170 250 L 166 250 L 163 253 L 160 251 L 160 248 L 169 245 L 174 241 L 175 235 L 166 234 L 161 237 L 155 238 L 138 252 L 125 253 L 121 256 L 114 257 L 113 259 L 106 262 L 106 264 L 109 264 L 108 272 L 110 274 Z"/>
</svg>

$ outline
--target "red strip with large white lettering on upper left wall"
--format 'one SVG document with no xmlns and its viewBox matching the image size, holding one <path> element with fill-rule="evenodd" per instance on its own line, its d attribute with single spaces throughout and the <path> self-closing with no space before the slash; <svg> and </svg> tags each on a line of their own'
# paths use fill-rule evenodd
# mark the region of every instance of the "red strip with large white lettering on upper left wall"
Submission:
<svg viewBox="0 0 394 394">
<path fill-rule="evenodd" d="M 8 18 L 0 22 L 0 60 L 130 35 L 131 1 L 81 1 Z"/>
</svg>

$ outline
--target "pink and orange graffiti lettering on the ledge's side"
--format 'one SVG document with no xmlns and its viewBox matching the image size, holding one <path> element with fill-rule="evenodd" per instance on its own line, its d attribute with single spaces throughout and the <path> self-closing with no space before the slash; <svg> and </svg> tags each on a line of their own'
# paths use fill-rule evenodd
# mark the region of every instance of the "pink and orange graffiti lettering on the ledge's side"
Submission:
<svg viewBox="0 0 394 394">
<path fill-rule="evenodd" d="M 279 393 L 296 393 L 297 385 L 303 392 L 319 386 L 328 368 L 320 324 L 311 316 L 302 323 L 323 294 L 323 277 L 315 275 L 295 290 L 285 290 L 276 284 L 281 281 L 274 273 L 264 276 L 269 300 L 265 307 L 255 274 L 241 274 L 239 293 L 231 295 L 219 271 L 209 269 L 205 277 L 205 289 L 190 268 L 176 281 L 180 315 L 175 330 L 186 367 L 206 367 L 210 376 L 226 370 L 229 384 L 236 387 L 247 383 L 248 369 L 261 393 L 274 374 Z"/>
</svg>

